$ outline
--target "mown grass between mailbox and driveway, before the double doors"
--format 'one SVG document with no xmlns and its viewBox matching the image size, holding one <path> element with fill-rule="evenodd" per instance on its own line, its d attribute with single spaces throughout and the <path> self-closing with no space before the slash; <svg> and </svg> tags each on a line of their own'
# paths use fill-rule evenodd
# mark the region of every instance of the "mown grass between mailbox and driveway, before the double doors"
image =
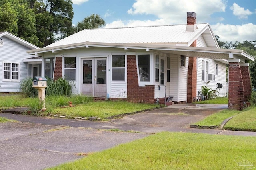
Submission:
<svg viewBox="0 0 256 170">
<path fill-rule="evenodd" d="M 88 104 L 79 104 L 75 107 L 52 109 L 52 114 L 66 115 L 70 117 L 96 116 L 102 119 L 124 113 L 133 113 L 146 109 L 156 108 L 155 104 L 130 103 L 126 101 L 98 101 Z"/>
</svg>

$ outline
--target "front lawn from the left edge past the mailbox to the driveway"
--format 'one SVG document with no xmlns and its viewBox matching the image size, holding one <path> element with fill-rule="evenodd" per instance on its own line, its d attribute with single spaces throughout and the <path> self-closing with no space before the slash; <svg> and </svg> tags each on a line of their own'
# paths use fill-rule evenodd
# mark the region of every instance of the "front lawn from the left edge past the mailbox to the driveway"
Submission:
<svg viewBox="0 0 256 170">
<path fill-rule="evenodd" d="M 66 107 L 72 102 L 74 107 Z M 126 101 L 93 101 L 88 96 L 46 96 L 46 111 L 40 112 L 38 98 L 24 98 L 20 95 L 0 96 L 0 109 L 10 107 L 30 107 L 32 115 L 52 114 L 65 115 L 70 118 L 74 117 L 100 117 L 106 119 L 116 115 L 145 111 L 148 109 L 158 108 L 161 105 L 131 103 Z"/>
</svg>

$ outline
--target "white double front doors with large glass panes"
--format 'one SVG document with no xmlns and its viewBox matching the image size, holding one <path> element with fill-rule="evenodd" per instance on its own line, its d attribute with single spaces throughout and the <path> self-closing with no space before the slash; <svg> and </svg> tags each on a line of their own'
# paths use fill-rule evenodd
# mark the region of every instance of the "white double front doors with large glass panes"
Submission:
<svg viewBox="0 0 256 170">
<path fill-rule="evenodd" d="M 106 58 L 81 59 L 82 94 L 94 97 L 106 97 Z"/>
</svg>

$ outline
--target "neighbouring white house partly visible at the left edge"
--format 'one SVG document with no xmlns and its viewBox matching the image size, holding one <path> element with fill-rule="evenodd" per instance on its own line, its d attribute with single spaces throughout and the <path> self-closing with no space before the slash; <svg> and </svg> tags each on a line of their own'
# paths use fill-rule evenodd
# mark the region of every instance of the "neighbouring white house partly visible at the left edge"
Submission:
<svg viewBox="0 0 256 170">
<path fill-rule="evenodd" d="M 24 78 L 41 74 L 41 62 L 33 66 L 23 61 L 35 57 L 26 53 L 31 49 L 39 47 L 11 33 L 0 32 L 0 92 L 20 92 Z"/>
</svg>

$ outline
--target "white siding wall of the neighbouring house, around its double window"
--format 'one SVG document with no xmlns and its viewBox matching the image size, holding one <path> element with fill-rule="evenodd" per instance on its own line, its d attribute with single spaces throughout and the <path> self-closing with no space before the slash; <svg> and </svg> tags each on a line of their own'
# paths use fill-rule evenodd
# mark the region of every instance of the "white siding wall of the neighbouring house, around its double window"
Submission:
<svg viewBox="0 0 256 170">
<path fill-rule="evenodd" d="M 0 92 L 20 92 L 20 82 L 27 77 L 28 68 L 27 63 L 23 62 L 23 59 L 34 57 L 28 55 L 27 50 L 30 50 L 19 43 L 16 43 L 6 37 L 1 37 L 4 41 L 4 45 L 0 47 Z M 3 80 L 3 63 L 19 63 L 19 82 L 2 81 Z"/>
</svg>

